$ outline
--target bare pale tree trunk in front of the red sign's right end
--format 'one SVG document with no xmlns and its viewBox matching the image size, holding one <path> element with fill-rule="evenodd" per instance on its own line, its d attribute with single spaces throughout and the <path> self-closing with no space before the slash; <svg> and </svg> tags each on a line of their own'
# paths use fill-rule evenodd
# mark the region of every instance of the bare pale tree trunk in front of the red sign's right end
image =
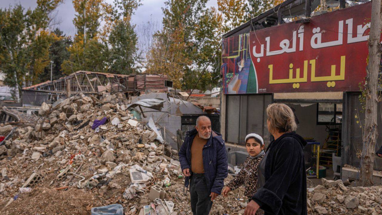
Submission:
<svg viewBox="0 0 382 215">
<path fill-rule="evenodd" d="M 371 186 L 374 170 L 376 142 L 378 137 L 377 125 L 377 84 L 381 58 L 381 0 L 373 0 L 371 5 L 371 23 L 369 36 L 369 64 L 366 67 L 365 78 L 365 126 L 363 131 L 363 147 L 361 155 L 361 186 Z"/>
</svg>

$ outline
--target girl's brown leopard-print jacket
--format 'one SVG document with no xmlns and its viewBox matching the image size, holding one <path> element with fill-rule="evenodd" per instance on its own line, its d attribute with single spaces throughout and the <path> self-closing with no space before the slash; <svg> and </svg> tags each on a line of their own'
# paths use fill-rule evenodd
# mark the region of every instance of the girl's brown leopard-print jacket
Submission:
<svg viewBox="0 0 382 215">
<path fill-rule="evenodd" d="M 257 191 L 257 168 L 262 158 L 264 158 L 264 155 L 254 159 L 248 155 L 244 161 L 243 168 L 239 174 L 227 184 L 227 187 L 234 190 L 244 184 L 244 195 L 251 198 Z"/>
</svg>

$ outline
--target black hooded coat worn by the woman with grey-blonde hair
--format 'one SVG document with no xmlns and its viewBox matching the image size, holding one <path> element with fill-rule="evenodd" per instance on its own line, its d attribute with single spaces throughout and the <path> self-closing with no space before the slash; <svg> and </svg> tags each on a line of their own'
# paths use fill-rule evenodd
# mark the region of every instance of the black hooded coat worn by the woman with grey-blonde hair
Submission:
<svg viewBox="0 0 382 215">
<path fill-rule="evenodd" d="M 270 143 L 265 160 L 265 184 L 252 196 L 267 214 L 306 215 L 306 141 L 294 132 Z"/>
</svg>

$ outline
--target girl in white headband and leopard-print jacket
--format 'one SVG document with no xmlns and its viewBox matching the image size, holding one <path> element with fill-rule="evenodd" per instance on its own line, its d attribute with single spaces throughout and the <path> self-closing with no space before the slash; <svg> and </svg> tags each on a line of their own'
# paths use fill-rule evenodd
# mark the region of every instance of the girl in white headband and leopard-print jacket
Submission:
<svg viewBox="0 0 382 215">
<path fill-rule="evenodd" d="M 223 190 L 226 197 L 228 192 L 244 185 L 244 195 L 251 200 L 252 195 L 257 191 L 257 167 L 264 157 L 264 140 L 258 134 L 248 134 L 245 137 L 245 147 L 248 156 L 244 161 L 243 168 L 233 178 Z"/>
</svg>

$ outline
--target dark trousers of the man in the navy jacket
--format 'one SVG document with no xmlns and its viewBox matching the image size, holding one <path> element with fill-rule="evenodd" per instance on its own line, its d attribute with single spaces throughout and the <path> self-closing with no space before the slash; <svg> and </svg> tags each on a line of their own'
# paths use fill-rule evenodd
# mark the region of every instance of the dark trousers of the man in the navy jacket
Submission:
<svg viewBox="0 0 382 215">
<path fill-rule="evenodd" d="M 211 192 L 204 174 L 194 174 L 190 179 L 191 210 L 194 215 L 208 215 L 212 207 Z"/>
</svg>

